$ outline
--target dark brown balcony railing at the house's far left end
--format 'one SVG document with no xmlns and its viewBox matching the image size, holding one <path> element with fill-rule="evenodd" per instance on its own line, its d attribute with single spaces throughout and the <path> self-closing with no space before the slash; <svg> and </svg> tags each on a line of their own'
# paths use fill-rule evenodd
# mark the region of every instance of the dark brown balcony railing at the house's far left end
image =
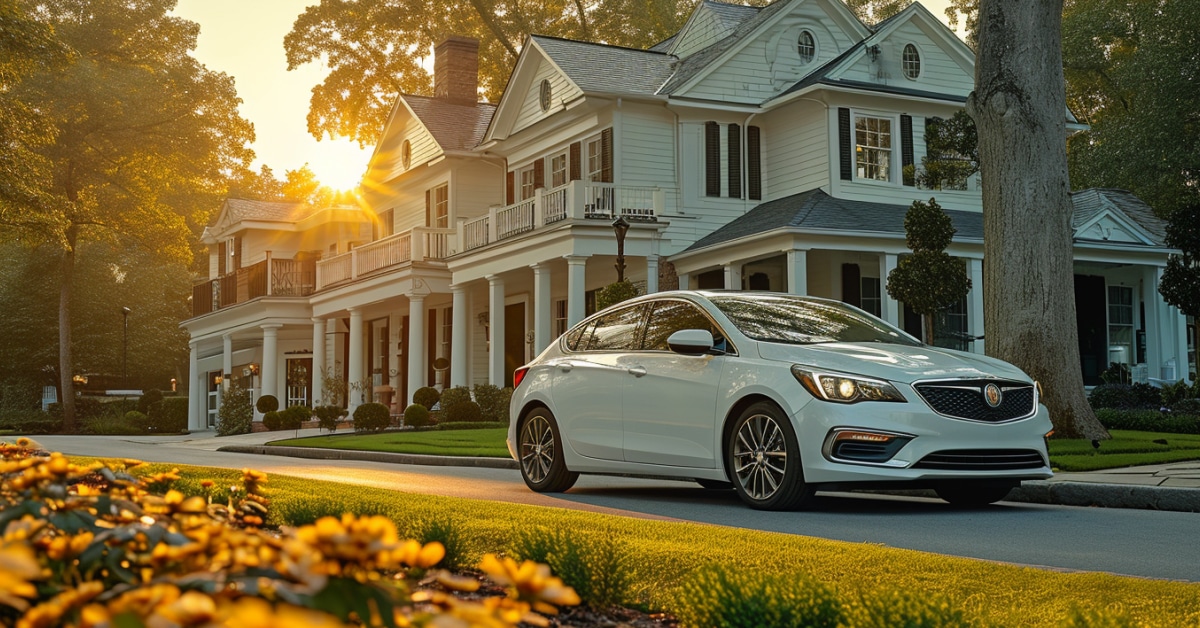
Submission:
<svg viewBox="0 0 1200 628">
<path fill-rule="evenodd" d="M 316 261 L 272 259 L 268 252 L 266 259 L 257 264 L 192 286 L 192 316 L 259 297 L 307 297 L 313 292 L 316 276 Z"/>
</svg>

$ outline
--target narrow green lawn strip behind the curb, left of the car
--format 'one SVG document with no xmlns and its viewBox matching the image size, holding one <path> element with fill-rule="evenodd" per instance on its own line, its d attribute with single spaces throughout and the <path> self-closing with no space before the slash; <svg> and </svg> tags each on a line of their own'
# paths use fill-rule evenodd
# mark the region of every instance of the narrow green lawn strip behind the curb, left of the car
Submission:
<svg viewBox="0 0 1200 628">
<path fill-rule="evenodd" d="M 509 457 L 504 445 L 508 427 L 484 430 L 436 430 L 422 432 L 347 433 L 289 438 L 269 444 L 288 447 L 324 447 L 329 449 L 359 449 L 395 454 L 428 454 L 442 456 Z"/>
</svg>

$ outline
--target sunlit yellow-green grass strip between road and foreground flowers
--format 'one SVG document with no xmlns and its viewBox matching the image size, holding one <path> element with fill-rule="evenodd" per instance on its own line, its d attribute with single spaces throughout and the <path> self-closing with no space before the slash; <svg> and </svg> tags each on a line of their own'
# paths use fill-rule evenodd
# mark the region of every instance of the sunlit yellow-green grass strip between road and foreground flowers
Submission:
<svg viewBox="0 0 1200 628">
<path fill-rule="evenodd" d="M 170 467 L 148 465 L 139 472 Z M 229 469 L 179 468 L 182 479 L 175 483 L 176 489 L 199 495 L 200 480 L 211 479 L 217 501 L 224 501 L 223 488 L 238 484 L 241 476 Z M 379 514 L 395 520 L 402 534 L 416 538 L 430 522 L 442 522 L 455 530 L 467 564 L 487 551 L 512 552 L 529 533 L 610 543 L 628 552 L 625 564 L 636 580 L 634 599 L 626 605 L 648 609 L 679 608 L 690 574 L 725 566 L 767 576 L 808 574 L 834 588 L 842 600 L 888 592 L 944 600 L 962 610 L 970 626 L 1080 626 L 1072 622 L 1079 610 L 1105 615 L 1104 621 L 1084 626 L 1200 624 L 1200 584 L 1062 573 L 872 544 L 409 495 L 281 476 L 269 479 L 266 495 L 271 500 L 269 522 L 275 525 L 302 525 L 343 512 Z M 752 515 L 746 510 L 748 518 Z M 1114 621 L 1122 615 L 1127 623 Z"/>
</svg>

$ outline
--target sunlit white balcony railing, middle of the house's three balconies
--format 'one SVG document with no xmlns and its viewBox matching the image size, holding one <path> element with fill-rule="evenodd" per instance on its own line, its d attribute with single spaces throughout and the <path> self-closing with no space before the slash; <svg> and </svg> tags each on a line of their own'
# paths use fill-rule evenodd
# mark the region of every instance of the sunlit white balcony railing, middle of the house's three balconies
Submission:
<svg viewBox="0 0 1200 628">
<path fill-rule="evenodd" d="M 349 252 L 317 262 L 317 289 L 322 291 L 400 264 L 443 259 L 450 253 L 455 229 L 415 227 Z"/>
</svg>

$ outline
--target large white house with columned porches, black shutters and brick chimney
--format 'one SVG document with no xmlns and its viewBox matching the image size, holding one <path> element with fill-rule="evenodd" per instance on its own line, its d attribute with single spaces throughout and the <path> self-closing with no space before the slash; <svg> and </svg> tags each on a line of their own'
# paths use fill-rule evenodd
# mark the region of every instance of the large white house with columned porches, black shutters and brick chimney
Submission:
<svg viewBox="0 0 1200 628">
<path fill-rule="evenodd" d="M 868 28 L 839 0 L 704 0 L 648 50 L 532 36 L 490 104 L 478 43 L 451 37 L 436 95 L 398 98 L 366 208 L 230 199 L 205 232 L 212 281 L 184 322 L 190 425 L 212 425 L 227 377 L 312 405 L 326 372 L 350 382 L 352 406 L 397 408 L 422 385 L 506 385 L 617 279 L 617 217 L 625 274 L 647 292 L 814 294 L 919 335 L 882 277 L 907 252 L 908 204 L 936 197 L 974 286 L 938 343 L 983 352 L 978 178 L 913 185 L 928 120 L 964 107 L 973 62 L 919 4 Z M 1085 383 L 1111 363 L 1186 376 L 1184 317 L 1157 291 L 1163 223 L 1120 190 L 1072 198 Z"/>
</svg>

